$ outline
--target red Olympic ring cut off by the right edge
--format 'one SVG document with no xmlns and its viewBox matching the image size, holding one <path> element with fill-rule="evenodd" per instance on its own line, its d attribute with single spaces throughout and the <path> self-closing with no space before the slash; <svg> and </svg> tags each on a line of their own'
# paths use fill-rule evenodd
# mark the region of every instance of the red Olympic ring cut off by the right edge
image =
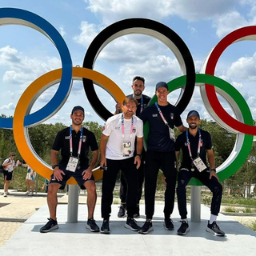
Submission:
<svg viewBox="0 0 256 256">
<path fill-rule="evenodd" d="M 218 62 L 218 58 L 221 56 L 224 50 L 226 50 L 227 46 L 230 46 L 233 42 L 238 42 L 242 38 L 252 38 L 252 36 L 256 36 L 256 26 L 246 26 L 238 30 L 234 30 L 230 34 L 228 34 L 225 38 L 223 38 L 218 45 L 215 46 L 214 50 L 210 54 L 210 58 L 206 64 L 206 74 L 214 75 L 214 70 L 216 64 Z M 217 94 L 215 92 L 214 86 L 206 84 L 206 95 L 210 102 L 210 106 L 213 108 L 215 113 L 222 119 L 223 122 L 235 130 L 243 134 L 251 134 L 256 135 L 256 126 L 249 126 L 238 120 L 232 118 L 230 114 L 223 109 L 222 105 L 218 101 Z"/>
</svg>

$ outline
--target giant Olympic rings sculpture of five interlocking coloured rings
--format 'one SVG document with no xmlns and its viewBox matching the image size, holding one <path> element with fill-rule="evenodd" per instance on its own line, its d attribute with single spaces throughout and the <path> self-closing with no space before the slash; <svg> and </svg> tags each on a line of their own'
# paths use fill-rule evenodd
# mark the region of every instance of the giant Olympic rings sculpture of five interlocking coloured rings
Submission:
<svg viewBox="0 0 256 256">
<path fill-rule="evenodd" d="M 123 94 L 122 90 L 110 78 L 106 78 L 105 75 L 92 69 L 100 51 L 115 38 L 126 34 L 150 35 L 165 43 L 172 50 L 178 59 L 182 74 L 184 75 L 168 82 L 168 86 L 170 92 L 182 88 L 178 102 L 175 104 L 181 113 L 190 102 L 190 98 L 194 92 L 194 86 L 200 86 L 202 100 L 212 118 L 226 130 L 237 134 L 234 149 L 230 157 L 217 168 L 220 180 L 223 181 L 229 178 L 246 161 L 246 157 L 250 153 L 252 146 L 253 135 L 256 135 L 256 127 L 253 126 L 253 118 L 249 106 L 246 104 L 244 98 L 242 98 L 242 95 L 239 94 L 238 90 L 228 82 L 214 77 L 214 69 L 218 58 L 231 43 L 246 39 L 256 39 L 256 26 L 244 27 L 228 34 L 207 56 L 202 66 L 202 74 L 195 74 L 192 56 L 186 44 L 182 41 L 182 38 L 167 26 L 150 19 L 130 18 L 115 22 L 106 27 L 90 44 L 84 58 L 83 68 L 72 66 L 70 52 L 62 36 L 49 22 L 46 22 L 45 19 L 39 17 L 37 14 L 15 8 L 0 8 L 0 26 L 9 24 L 29 26 L 46 35 L 54 42 L 62 60 L 62 69 L 52 70 L 42 75 L 26 88 L 15 108 L 14 118 L 0 118 L 0 128 L 14 130 L 14 139 L 22 158 L 26 162 L 29 162 L 30 166 L 37 170 L 38 174 L 41 174 L 43 177 L 50 178 L 52 170 L 34 151 L 27 133 L 28 127 L 35 126 L 53 116 L 63 106 L 64 102 L 66 102 L 73 80 L 78 79 L 83 81 L 87 98 L 95 112 L 104 120 L 109 118 L 112 114 L 99 101 L 94 90 L 94 83 L 108 91 L 117 102 L 122 102 L 125 94 Z M 30 110 L 38 96 L 44 90 L 58 82 L 60 82 L 60 85 L 54 98 L 41 110 L 30 114 Z M 221 94 L 230 103 L 237 120 L 230 117 L 222 108 L 215 92 Z M 154 104 L 156 100 L 156 96 L 154 96 L 150 104 Z M 149 133 L 148 124 L 145 125 L 144 130 L 146 138 Z M 96 180 L 102 178 L 102 171 L 99 168 L 94 170 L 94 178 Z M 74 179 L 70 179 L 69 184 L 76 184 L 76 182 Z M 201 185 L 201 183 L 194 179 L 190 182 L 190 185 Z"/>
</svg>

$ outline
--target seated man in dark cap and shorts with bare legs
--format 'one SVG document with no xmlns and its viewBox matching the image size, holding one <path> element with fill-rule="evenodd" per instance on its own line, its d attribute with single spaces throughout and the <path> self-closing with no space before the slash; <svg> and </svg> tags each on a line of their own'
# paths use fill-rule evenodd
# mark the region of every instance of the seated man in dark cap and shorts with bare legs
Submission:
<svg viewBox="0 0 256 256">
<path fill-rule="evenodd" d="M 57 192 L 64 189 L 69 178 L 74 177 L 82 190 L 87 190 L 88 220 L 86 228 L 98 232 L 99 228 L 94 221 L 94 207 L 96 204 L 96 186 L 92 170 L 98 161 L 98 144 L 94 133 L 82 126 L 85 118 L 82 106 L 74 106 L 70 118 L 72 125 L 58 132 L 50 160 L 54 173 L 48 186 L 47 203 L 50 211 L 49 222 L 40 229 L 41 233 L 58 229 L 56 209 L 58 205 Z M 93 156 L 89 164 L 89 149 Z M 58 151 L 61 150 L 62 160 L 58 162 Z"/>
</svg>

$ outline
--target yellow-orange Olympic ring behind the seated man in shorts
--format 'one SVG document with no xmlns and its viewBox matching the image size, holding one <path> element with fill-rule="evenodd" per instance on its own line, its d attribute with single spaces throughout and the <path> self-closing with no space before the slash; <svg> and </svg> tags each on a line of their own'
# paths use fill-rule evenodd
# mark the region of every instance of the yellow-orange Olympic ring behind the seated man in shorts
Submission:
<svg viewBox="0 0 256 256">
<path fill-rule="evenodd" d="M 16 142 L 18 151 L 22 154 L 22 158 L 26 162 L 30 162 L 32 169 L 37 170 L 38 174 L 48 179 L 53 173 L 53 170 L 48 164 L 46 164 L 46 162 L 42 161 L 38 155 L 36 156 L 36 152 L 30 143 L 29 136 L 27 136 L 28 128 L 24 126 L 24 118 L 26 114 L 30 114 L 30 109 L 34 104 L 35 99 L 38 98 L 38 93 L 42 93 L 48 87 L 60 82 L 61 78 L 62 69 L 50 71 L 37 78 L 24 91 L 14 112 L 14 140 Z M 98 86 L 101 86 L 104 90 L 108 91 L 117 102 L 122 102 L 126 98 L 122 90 L 105 75 L 94 70 L 82 67 L 73 67 L 72 79 L 82 80 L 82 78 L 93 80 Z M 68 95 L 66 97 L 68 97 Z M 50 118 L 52 115 L 53 114 L 51 114 L 48 118 Z M 102 178 L 102 170 L 99 170 L 99 167 L 94 169 L 93 174 L 95 180 Z M 70 178 L 68 184 L 75 185 L 77 183 L 74 178 Z"/>
</svg>

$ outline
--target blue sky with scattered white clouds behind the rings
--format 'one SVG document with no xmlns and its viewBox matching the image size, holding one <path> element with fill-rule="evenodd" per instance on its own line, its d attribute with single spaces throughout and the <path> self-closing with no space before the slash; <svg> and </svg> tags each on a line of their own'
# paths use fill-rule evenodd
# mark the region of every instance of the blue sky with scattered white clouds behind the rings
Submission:
<svg viewBox="0 0 256 256">
<path fill-rule="evenodd" d="M 29 10 L 50 22 L 64 38 L 73 66 L 82 66 L 90 42 L 106 26 L 125 18 L 150 18 L 174 30 L 186 43 L 194 59 L 196 71 L 210 50 L 229 34 L 243 26 L 256 25 L 256 3 L 253 0 L 1 0 L 0 7 Z M 48 38 L 26 26 L 0 26 L 0 114 L 14 114 L 22 92 L 36 78 L 61 67 L 55 46 Z M 256 119 L 254 86 L 256 80 L 256 42 L 243 41 L 229 46 L 222 54 L 215 75 L 230 82 L 250 106 Z M 145 94 L 152 96 L 159 81 L 169 82 L 182 75 L 174 54 L 162 42 L 141 34 L 122 36 L 103 48 L 94 70 L 105 74 L 131 93 L 135 75 L 146 79 Z M 34 103 L 32 112 L 40 109 L 53 97 L 58 85 L 46 90 Z M 96 88 L 98 97 L 114 112 L 115 102 L 104 90 Z M 178 99 L 179 91 L 169 96 L 170 103 Z M 222 106 L 233 115 L 229 105 L 220 98 Z M 62 109 L 46 123 L 70 124 L 70 110 L 81 105 L 86 121 L 104 121 L 94 112 L 84 93 L 82 82 L 74 82 L 70 96 Z M 202 118 L 212 119 L 202 104 L 198 87 L 189 110 L 198 110 Z"/>
</svg>

